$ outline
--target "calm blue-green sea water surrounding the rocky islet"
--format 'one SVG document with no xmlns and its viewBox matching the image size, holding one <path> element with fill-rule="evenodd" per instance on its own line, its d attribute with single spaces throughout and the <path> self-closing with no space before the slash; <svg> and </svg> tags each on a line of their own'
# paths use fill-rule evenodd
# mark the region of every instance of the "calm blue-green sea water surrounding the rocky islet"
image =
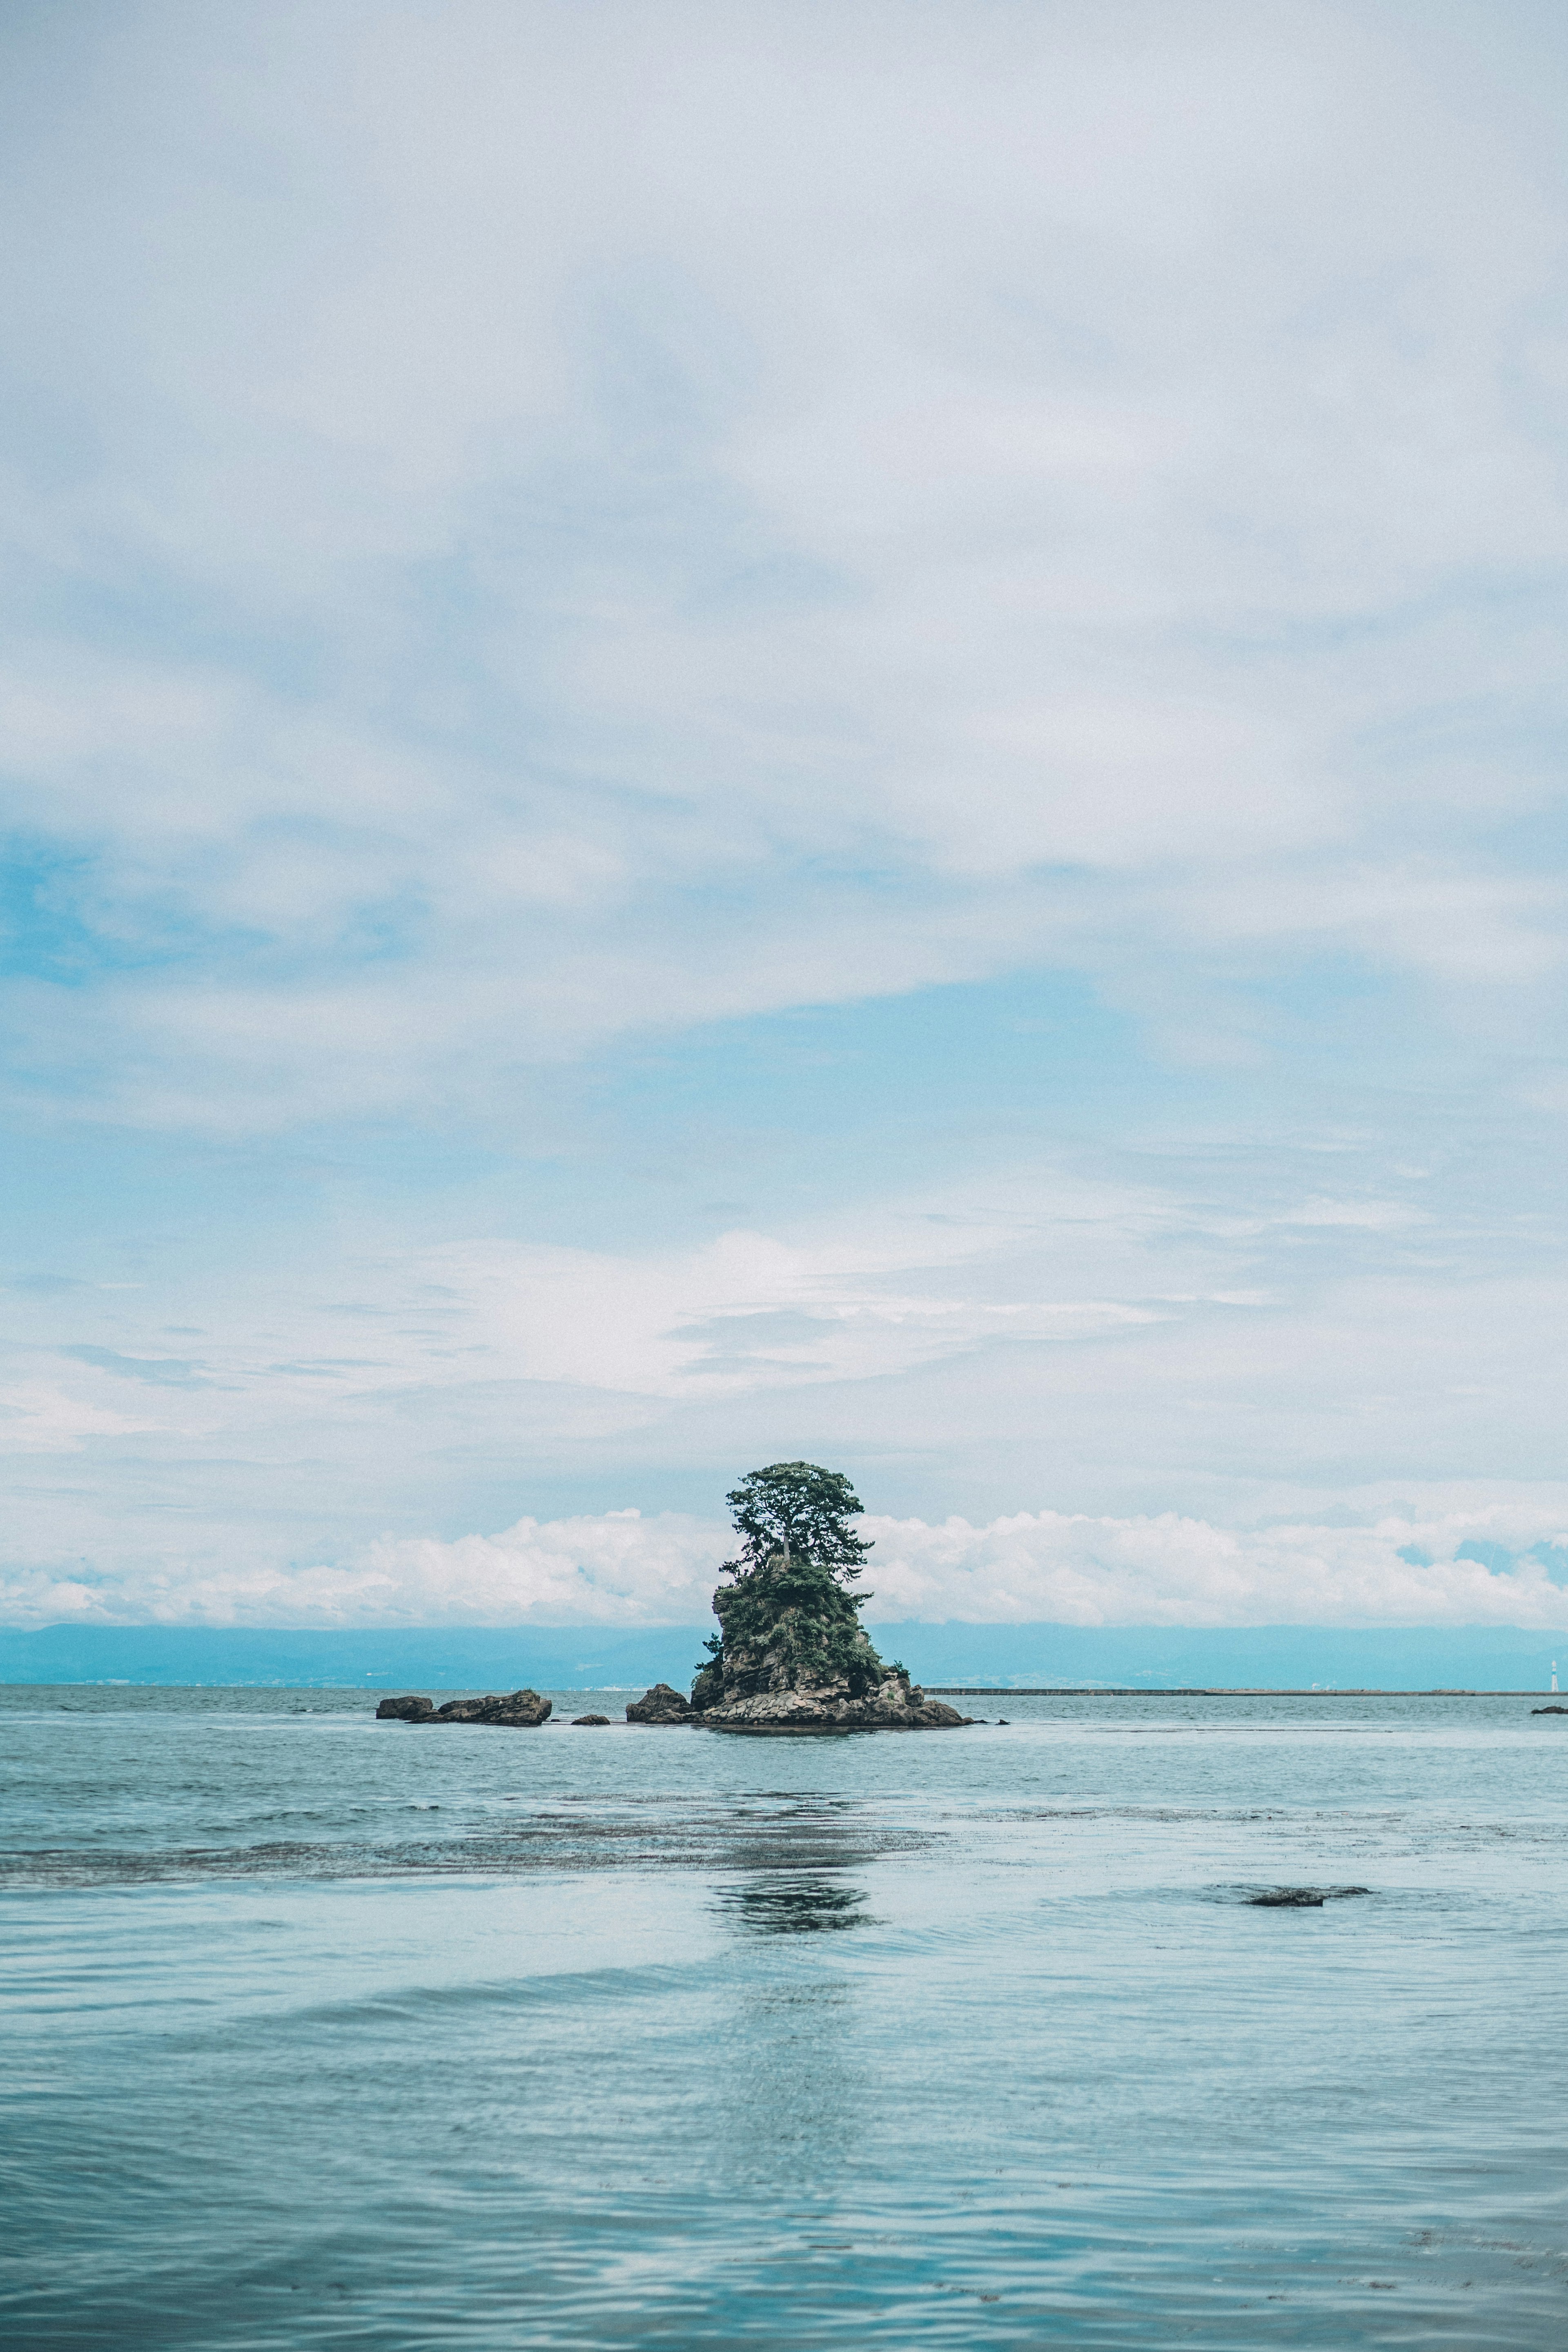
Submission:
<svg viewBox="0 0 1568 2352">
<path fill-rule="evenodd" d="M 5 2338 L 1568 2343 L 1568 1719 L 971 1705 L 2 1689 Z"/>
</svg>

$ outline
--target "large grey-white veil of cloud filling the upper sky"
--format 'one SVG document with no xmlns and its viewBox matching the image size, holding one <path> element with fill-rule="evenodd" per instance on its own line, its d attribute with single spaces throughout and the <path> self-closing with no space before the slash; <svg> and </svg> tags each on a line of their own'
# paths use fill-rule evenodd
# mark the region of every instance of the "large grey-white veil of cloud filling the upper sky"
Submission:
<svg viewBox="0 0 1568 2352">
<path fill-rule="evenodd" d="M 1041 948 L 1154 1014 L 1197 955 L 1218 1021 L 1260 955 L 1561 976 L 1507 833 L 1563 193 L 1505 59 L 1333 9 L 252 38 L 26 59 L 54 619 L 0 708 L 99 957 L 21 997 L 75 1101 L 473 1103 Z"/>
</svg>

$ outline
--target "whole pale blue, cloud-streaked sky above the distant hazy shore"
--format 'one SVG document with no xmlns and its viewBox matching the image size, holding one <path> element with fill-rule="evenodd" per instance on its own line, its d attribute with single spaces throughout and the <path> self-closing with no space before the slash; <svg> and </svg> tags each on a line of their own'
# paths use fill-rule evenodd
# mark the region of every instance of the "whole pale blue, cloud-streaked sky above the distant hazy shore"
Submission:
<svg viewBox="0 0 1568 2352">
<path fill-rule="evenodd" d="M 12 0 L 0 1621 L 1568 1630 L 1568 28 Z"/>
</svg>

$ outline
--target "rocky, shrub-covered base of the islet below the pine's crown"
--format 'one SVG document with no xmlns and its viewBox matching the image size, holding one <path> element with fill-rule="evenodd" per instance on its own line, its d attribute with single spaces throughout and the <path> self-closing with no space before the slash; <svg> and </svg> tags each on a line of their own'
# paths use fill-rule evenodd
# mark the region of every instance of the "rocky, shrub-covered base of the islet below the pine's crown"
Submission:
<svg viewBox="0 0 1568 2352">
<path fill-rule="evenodd" d="M 691 1684 L 691 1719 L 705 1731 L 792 1736 L 813 1731 L 954 1731 L 957 1708 L 884 1665 L 856 1599 L 788 1550 L 719 1585 L 719 1656 Z"/>
</svg>

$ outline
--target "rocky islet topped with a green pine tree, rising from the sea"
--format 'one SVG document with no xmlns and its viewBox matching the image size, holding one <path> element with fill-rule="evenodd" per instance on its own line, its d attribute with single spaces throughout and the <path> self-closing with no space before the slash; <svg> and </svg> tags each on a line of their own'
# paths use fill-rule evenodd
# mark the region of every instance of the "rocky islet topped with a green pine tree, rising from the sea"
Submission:
<svg viewBox="0 0 1568 2352">
<path fill-rule="evenodd" d="M 860 1625 L 870 1592 L 851 1592 L 870 1543 L 860 1496 L 839 1470 L 771 1463 L 729 1494 L 741 1552 L 712 1597 L 719 1632 L 691 1686 L 649 1691 L 630 1722 L 701 1722 L 710 1731 L 940 1731 L 957 1708 L 884 1665 Z M 670 1708 L 668 1700 L 675 1700 Z"/>
</svg>

